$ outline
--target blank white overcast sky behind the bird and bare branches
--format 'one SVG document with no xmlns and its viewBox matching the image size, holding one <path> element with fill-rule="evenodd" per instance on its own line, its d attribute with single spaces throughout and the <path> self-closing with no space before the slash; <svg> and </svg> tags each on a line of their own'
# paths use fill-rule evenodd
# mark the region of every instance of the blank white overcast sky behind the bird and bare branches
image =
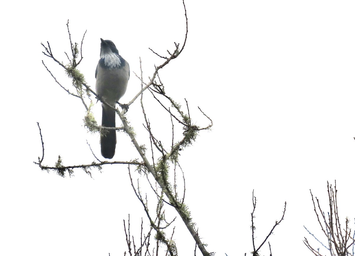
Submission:
<svg viewBox="0 0 355 256">
<path fill-rule="evenodd" d="M 186 0 L 189 35 L 178 59 L 160 72 L 168 95 L 184 105 L 198 125 L 213 119 L 211 131 L 181 152 L 186 202 L 207 250 L 217 255 L 252 251 L 252 190 L 257 197 L 257 244 L 282 216 L 270 237 L 277 255 L 312 255 L 304 230 L 321 236 L 309 189 L 327 211 L 327 180 L 337 180 L 338 207 L 354 229 L 354 68 L 353 1 L 196 1 Z M 202 3 L 202 4 L 201 4 Z M 105 166 L 93 179 L 80 170 L 61 178 L 33 164 L 42 154 L 37 122 L 45 142 L 45 165 L 58 155 L 64 165 L 94 161 L 86 140 L 99 154 L 99 135 L 83 127 L 84 108 L 50 77 L 44 60 L 67 87 L 59 65 L 42 54 L 49 41 L 58 59 L 81 41 L 79 69 L 94 88 L 100 37 L 114 41 L 131 67 L 122 102 L 140 89 L 133 71 L 151 76 L 164 54 L 183 43 L 185 18 L 180 1 L 31 1 L 5 3 L 2 24 L 2 168 L 0 180 L 0 255 L 123 255 L 127 250 L 122 219 L 131 214 L 138 238 L 140 218 L 148 221 L 133 194 L 126 166 Z M 147 97 L 148 100 L 148 97 Z M 148 103 L 147 103 L 148 104 Z M 94 113 L 100 120 L 101 107 Z M 149 112 L 154 119 L 154 108 Z M 143 138 L 140 104 L 127 118 Z M 157 120 L 158 121 L 158 120 Z M 153 121 L 152 121 L 153 123 Z M 158 126 L 158 124 L 156 125 Z M 168 119 L 166 138 L 170 136 Z M 161 135 L 164 137 L 164 134 Z M 138 141 L 140 143 L 140 141 Z M 167 142 L 168 144 L 170 141 Z M 138 157 L 118 133 L 113 160 Z M 153 201 L 152 201 L 153 204 Z M 176 216 L 170 211 L 170 220 Z M 180 255 L 194 244 L 176 221 Z M 261 251 L 269 255 L 267 244 Z"/>
</svg>

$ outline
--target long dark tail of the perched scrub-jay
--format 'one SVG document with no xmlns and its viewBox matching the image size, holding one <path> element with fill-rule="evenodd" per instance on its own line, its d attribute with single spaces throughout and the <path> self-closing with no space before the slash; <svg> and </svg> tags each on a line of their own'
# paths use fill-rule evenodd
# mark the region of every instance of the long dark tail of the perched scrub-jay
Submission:
<svg viewBox="0 0 355 256">
<path fill-rule="evenodd" d="M 116 127 L 116 112 L 112 108 L 102 106 L 102 124 L 104 127 Z M 101 135 L 101 155 L 111 159 L 115 155 L 116 130 L 105 130 Z"/>
</svg>

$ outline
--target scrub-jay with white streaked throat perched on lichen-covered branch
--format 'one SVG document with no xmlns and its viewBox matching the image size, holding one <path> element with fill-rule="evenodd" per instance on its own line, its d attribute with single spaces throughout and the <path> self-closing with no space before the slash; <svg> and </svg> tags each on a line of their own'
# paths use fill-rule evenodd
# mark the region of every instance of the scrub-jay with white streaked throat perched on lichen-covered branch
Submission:
<svg viewBox="0 0 355 256">
<path fill-rule="evenodd" d="M 110 40 L 101 39 L 100 60 L 95 71 L 96 93 L 110 106 L 115 107 L 116 101 L 125 94 L 130 65 L 119 54 Z M 116 111 L 102 105 L 102 124 L 104 127 L 116 127 Z M 101 135 L 101 155 L 111 159 L 115 155 L 116 130 L 105 130 Z"/>
</svg>

